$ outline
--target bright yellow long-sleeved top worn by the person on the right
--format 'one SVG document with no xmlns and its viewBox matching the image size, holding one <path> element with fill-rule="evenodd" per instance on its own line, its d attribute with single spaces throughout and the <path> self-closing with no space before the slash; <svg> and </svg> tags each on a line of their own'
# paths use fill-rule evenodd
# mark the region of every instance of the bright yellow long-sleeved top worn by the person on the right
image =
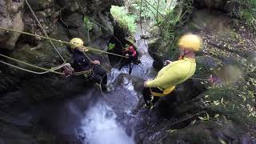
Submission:
<svg viewBox="0 0 256 144">
<path fill-rule="evenodd" d="M 146 82 L 146 86 L 158 87 L 161 90 L 170 89 L 192 77 L 195 69 L 195 59 L 185 57 L 163 67 L 154 80 Z"/>
</svg>

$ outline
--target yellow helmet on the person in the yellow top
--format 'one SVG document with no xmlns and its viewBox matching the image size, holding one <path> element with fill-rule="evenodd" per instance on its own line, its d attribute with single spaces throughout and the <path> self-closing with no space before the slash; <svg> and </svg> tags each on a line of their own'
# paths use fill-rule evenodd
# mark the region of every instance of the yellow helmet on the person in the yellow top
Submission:
<svg viewBox="0 0 256 144">
<path fill-rule="evenodd" d="M 202 38 L 195 34 L 186 34 L 178 41 L 178 46 L 184 49 L 198 51 L 201 50 Z"/>
</svg>

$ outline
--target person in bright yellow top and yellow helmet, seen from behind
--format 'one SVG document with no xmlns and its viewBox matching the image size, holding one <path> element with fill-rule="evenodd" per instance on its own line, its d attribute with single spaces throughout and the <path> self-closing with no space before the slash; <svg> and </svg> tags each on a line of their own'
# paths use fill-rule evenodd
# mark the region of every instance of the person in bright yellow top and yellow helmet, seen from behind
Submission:
<svg viewBox="0 0 256 144">
<path fill-rule="evenodd" d="M 167 66 L 158 72 L 154 80 L 144 82 L 142 90 L 146 108 L 152 109 L 162 96 L 170 94 L 175 86 L 192 77 L 196 70 L 195 51 L 201 49 L 202 39 L 195 34 L 186 34 L 179 39 L 180 58 L 167 61 Z"/>
</svg>

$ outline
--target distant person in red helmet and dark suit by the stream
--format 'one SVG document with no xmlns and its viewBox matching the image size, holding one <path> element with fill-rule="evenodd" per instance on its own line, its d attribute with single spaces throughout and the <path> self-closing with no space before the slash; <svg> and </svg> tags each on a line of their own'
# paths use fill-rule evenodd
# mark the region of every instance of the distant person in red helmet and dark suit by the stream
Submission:
<svg viewBox="0 0 256 144">
<path fill-rule="evenodd" d="M 126 60 L 122 62 L 121 66 L 118 70 L 121 70 L 123 66 L 129 65 L 129 74 L 131 74 L 134 63 L 138 64 L 138 51 L 134 50 L 134 46 L 129 46 L 128 49 L 126 49 Z"/>
</svg>

